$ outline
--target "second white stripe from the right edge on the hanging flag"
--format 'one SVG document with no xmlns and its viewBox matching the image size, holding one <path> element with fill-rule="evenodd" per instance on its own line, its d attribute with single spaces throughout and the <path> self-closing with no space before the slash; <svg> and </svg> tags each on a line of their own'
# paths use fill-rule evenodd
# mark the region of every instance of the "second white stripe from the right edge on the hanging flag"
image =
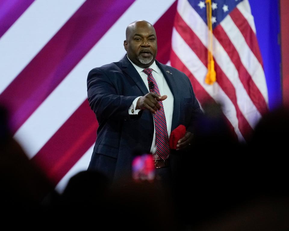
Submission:
<svg viewBox="0 0 289 231">
<path fill-rule="evenodd" d="M 268 104 L 267 84 L 262 65 L 259 63 L 255 55 L 251 51 L 242 33 L 235 25 L 230 15 L 227 15 L 225 17 L 225 19 L 221 22 L 221 25 L 228 37 L 230 38 L 232 44 L 238 51 L 241 62 L 243 63 L 248 73 L 251 75 L 252 80 L 254 81 L 257 88 L 259 88 L 266 103 Z"/>
</svg>

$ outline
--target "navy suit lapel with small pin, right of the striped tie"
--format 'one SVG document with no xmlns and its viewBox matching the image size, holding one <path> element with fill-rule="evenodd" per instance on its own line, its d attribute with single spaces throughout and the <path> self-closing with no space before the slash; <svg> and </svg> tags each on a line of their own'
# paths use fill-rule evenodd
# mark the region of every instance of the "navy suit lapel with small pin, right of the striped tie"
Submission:
<svg viewBox="0 0 289 231">
<path fill-rule="evenodd" d="M 159 63 L 156 60 L 157 66 L 160 68 L 160 70 L 163 73 L 163 76 L 166 79 L 167 84 L 169 85 L 169 89 L 172 92 L 172 95 L 174 96 L 174 110 L 172 113 L 172 127 L 171 131 L 174 130 L 176 127 L 179 126 L 179 118 L 180 118 L 180 98 L 178 94 L 178 89 L 176 88 L 176 76 L 170 72 L 165 65 Z"/>
</svg>

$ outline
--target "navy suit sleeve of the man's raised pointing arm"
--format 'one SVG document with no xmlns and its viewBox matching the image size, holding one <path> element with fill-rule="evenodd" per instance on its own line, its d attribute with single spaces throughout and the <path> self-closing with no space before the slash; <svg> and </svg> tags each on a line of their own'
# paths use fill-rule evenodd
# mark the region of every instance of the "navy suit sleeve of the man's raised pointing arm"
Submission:
<svg viewBox="0 0 289 231">
<path fill-rule="evenodd" d="M 138 96 L 123 96 L 117 92 L 110 78 L 100 69 L 92 69 L 87 77 L 87 96 L 89 106 L 97 119 L 134 120 L 141 116 L 128 113 L 134 99 Z"/>
</svg>

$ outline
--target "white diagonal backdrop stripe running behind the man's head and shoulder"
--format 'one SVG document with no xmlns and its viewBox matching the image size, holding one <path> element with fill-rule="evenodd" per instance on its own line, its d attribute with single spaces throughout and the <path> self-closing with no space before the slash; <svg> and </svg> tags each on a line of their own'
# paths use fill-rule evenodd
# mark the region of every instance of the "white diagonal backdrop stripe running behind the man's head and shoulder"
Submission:
<svg viewBox="0 0 289 231">
<path fill-rule="evenodd" d="M 118 61 L 124 56 L 126 26 L 140 18 L 154 24 L 173 2 L 174 0 L 146 1 L 146 4 L 154 5 L 154 10 L 150 11 L 139 10 L 143 8 L 142 0 L 135 1 L 129 7 L 15 134 L 14 137 L 23 145 L 30 158 L 87 99 L 88 72 L 96 66 Z"/>
</svg>

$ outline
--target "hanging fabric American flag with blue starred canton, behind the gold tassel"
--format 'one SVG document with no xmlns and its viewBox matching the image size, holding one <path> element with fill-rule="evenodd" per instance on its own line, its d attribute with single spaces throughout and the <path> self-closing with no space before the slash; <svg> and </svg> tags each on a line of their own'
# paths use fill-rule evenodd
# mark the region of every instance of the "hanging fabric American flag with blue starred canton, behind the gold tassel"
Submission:
<svg viewBox="0 0 289 231">
<path fill-rule="evenodd" d="M 213 0 L 216 82 L 205 84 L 208 29 L 205 1 L 179 1 L 172 34 L 171 65 L 185 72 L 202 105 L 223 105 L 228 124 L 246 140 L 268 110 L 268 93 L 248 0 Z"/>
</svg>

